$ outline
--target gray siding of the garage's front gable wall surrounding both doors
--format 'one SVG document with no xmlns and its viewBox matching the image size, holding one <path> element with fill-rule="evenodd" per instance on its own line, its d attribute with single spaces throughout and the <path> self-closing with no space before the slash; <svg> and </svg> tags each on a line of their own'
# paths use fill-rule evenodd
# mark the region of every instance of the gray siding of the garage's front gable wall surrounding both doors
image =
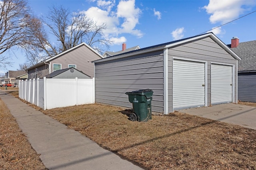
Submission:
<svg viewBox="0 0 256 170">
<path fill-rule="evenodd" d="M 174 58 L 207 62 L 207 106 L 211 105 L 211 63 L 228 65 L 234 64 L 234 70 L 236 70 L 236 59 L 234 59 L 227 51 L 220 47 L 220 45 L 218 45 L 210 37 L 198 39 L 196 41 L 168 49 L 168 112 L 173 111 L 172 61 Z M 236 74 L 234 78 L 236 82 Z M 234 88 L 236 92 L 236 84 Z M 234 97 L 236 101 L 236 93 Z"/>
</svg>

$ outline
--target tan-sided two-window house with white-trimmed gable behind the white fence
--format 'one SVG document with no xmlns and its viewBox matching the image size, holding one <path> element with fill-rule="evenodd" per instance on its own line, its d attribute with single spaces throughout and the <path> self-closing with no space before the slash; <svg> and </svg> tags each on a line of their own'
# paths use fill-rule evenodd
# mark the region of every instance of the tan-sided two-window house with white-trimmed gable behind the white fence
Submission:
<svg viewBox="0 0 256 170">
<path fill-rule="evenodd" d="M 56 70 L 70 67 L 74 67 L 93 78 L 94 64 L 91 61 L 102 58 L 102 55 L 92 49 L 92 47 L 86 43 L 81 43 L 28 68 L 28 79 L 43 78 Z"/>
</svg>

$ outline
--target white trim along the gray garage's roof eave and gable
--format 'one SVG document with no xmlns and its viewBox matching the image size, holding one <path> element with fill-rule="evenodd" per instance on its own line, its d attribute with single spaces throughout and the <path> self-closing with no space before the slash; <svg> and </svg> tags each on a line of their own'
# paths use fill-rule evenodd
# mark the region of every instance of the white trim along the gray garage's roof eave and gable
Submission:
<svg viewBox="0 0 256 170">
<path fill-rule="evenodd" d="M 128 54 L 125 54 L 125 55 L 118 55 L 116 57 L 107 57 L 107 58 L 104 58 L 104 59 L 99 59 L 99 60 L 96 60 L 96 61 L 92 61 L 92 63 L 100 63 L 100 62 L 103 62 L 103 61 L 121 59 L 121 58 L 129 57 L 129 56 L 132 56 L 132 55 L 139 55 L 139 54 L 142 54 L 142 53 L 149 53 L 149 52 L 152 52 L 152 51 L 158 51 L 158 50 L 161 50 L 161 49 L 170 48 L 170 47 L 173 47 L 173 46 L 176 46 L 176 45 L 180 45 L 180 44 L 183 44 L 183 43 L 186 43 L 186 42 L 194 41 L 196 39 L 201 39 L 201 38 L 208 37 L 208 36 L 211 37 L 212 39 L 214 39 L 214 41 L 216 43 L 218 43 L 218 45 L 220 45 L 223 49 L 228 51 L 228 53 L 230 53 L 230 55 L 232 55 L 232 57 L 234 57 L 237 60 L 241 60 L 241 58 L 238 57 L 238 55 L 236 55 L 236 53 L 234 53 L 226 44 L 224 44 L 222 41 L 220 41 L 220 39 L 218 39 L 218 37 L 216 37 L 213 33 L 207 33 L 207 34 L 204 34 L 204 35 L 199 35 L 199 36 L 196 36 L 196 37 L 185 39 L 184 41 L 178 41 L 177 43 L 171 43 L 170 42 L 169 45 L 159 46 L 159 47 L 150 48 L 150 49 L 145 49 L 145 50 L 142 50 L 142 51 L 137 51 L 137 52 L 134 52 L 134 53 L 128 53 Z"/>
</svg>

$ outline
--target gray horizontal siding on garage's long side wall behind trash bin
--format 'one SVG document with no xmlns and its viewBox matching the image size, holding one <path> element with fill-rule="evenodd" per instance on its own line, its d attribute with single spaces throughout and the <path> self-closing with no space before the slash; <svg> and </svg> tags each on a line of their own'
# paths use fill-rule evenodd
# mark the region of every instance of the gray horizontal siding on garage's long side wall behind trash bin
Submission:
<svg viewBox="0 0 256 170">
<path fill-rule="evenodd" d="M 132 107 L 125 92 L 153 90 L 152 111 L 163 112 L 163 51 L 95 63 L 96 102 Z"/>
</svg>

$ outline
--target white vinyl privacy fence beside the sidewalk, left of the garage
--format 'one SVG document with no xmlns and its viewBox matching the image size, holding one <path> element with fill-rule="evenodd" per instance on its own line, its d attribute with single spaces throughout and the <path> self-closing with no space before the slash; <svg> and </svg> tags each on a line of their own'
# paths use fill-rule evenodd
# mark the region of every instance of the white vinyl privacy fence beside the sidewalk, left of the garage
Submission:
<svg viewBox="0 0 256 170">
<path fill-rule="evenodd" d="M 95 102 L 94 78 L 19 81 L 19 98 L 46 110 Z"/>
</svg>

